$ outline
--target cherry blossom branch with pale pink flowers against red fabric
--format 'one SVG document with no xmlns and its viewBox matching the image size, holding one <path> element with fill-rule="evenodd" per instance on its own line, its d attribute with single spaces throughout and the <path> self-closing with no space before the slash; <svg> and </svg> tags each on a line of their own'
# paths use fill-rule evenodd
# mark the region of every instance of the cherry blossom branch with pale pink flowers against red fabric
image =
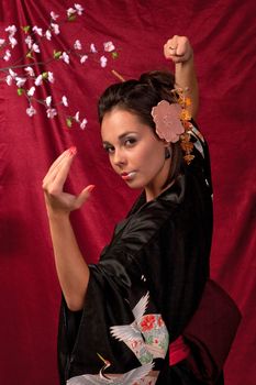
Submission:
<svg viewBox="0 0 256 385">
<path fill-rule="evenodd" d="M 0 81 L 5 81 L 8 86 L 14 85 L 16 87 L 18 96 L 24 96 L 27 100 L 29 107 L 26 108 L 26 114 L 33 117 L 36 114 L 35 103 L 43 105 L 46 109 L 46 114 L 48 119 L 53 119 L 56 116 L 62 117 L 63 114 L 58 111 L 59 107 L 68 107 L 68 98 L 66 96 L 62 97 L 62 101 L 53 105 L 52 96 L 47 96 L 46 99 L 38 99 L 34 96 L 36 89 L 45 82 L 54 84 L 55 76 L 53 72 L 49 72 L 47 65 L 56 61 L 63 61 L 66 65 L 70 63 L 70 56 L 79 58 L 80 64 L 85 64 L 89 57 L 100 64 L 104 68 L 108 64 L 108 56 L 112 59 L 115 59 L 119 54 L 112 42 L 103 43 L 103 50 L 98 51 L 93 43 L 90 44 L 89 51 L 84 51 L 82 45 L 79 40 L 76 40 L 73 47 L 67 51 L 53 51 L 53 57 L 48 57 L 45 61 L 37 61 L 36 55 L 41 53 L 42 42 L 52 41 L 53 35 L 58 35 L 60 33 L 60 25 L 67 22 L 73 22 L 77 16 L 80 16 L 84 13 L 84 8 L 75 3 L 74 8 L 69 8 L 66 11 L 66 19 L 64 21 L 57 22 L 59 18 L 55 12 L 51 12 L 51 22 L 45 32 L 42 28 L 34 25 L 22 26 L 22 30 L 25 34 L 24 43 L 27 46 L 27 53 L 20 57 L 19 59 L 11 63 L 12 59 L 12 50 L 18 45 L 18 40 L 15 38 L 15 33 L 18 31 L 15 25 L 9 25 L 5 28 L 5 33 L 8 37 L 0 37 L 0 52 L 3 52 L 2 57 L 0 57 L 0 63 L 10 63 L 9 66 L 0 67 L 0 73 L 5 74 L 3 78 L 0 78 Z M 34 61 L 34 62 L 31 62 Z M 29 62 L 29 63 L 25 63 Z M 35 70 L 38 73 L 38 68 L 44 66 L 44 72 L 35 74 Z M 21 73 L 22 72 L 22 73 Z M 27 87 L 27 82 L 33 82 L 33 86 Z M 53 87 L 53 86 L 52 86 Z M 80 119 L 80 112 L 77 111 L 74 116 L 65 114 L 66 124 L 68 128 L 73 127 L 73 123 L 76 122 L 80 125 L 81 129 L 86 128 L 87 119 Z"/>
</svg>

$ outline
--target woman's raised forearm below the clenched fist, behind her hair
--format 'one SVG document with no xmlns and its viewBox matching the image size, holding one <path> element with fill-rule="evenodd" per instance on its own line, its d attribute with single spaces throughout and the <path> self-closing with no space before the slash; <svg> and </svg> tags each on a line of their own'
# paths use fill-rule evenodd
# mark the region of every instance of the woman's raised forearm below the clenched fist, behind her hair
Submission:
<svg viewBox="0 0 256 385">
<path fill-rule="evenodd" d="M 187 62 L 175 64 L 175 81 L 177 88 L 187 89 L 186 96 L 191 99 L 190 113 L 196 118 L 199 109 L 199 90 L 193 55 Z"/>
</svg>

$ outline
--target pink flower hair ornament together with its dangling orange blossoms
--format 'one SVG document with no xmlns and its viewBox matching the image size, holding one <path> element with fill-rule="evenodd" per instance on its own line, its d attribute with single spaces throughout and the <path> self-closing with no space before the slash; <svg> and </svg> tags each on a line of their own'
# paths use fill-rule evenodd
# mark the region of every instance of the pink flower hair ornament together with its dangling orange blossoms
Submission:
<svg viewBox="0 0 256 385">
<path fill-rule="evenodd" d="M 152 109 L 152 117 L 156 124 L 156 133 L 160 139 L 168 143 L 180 141 L 180 146 L 185 152 L 185 161 L 190 164 L 194 158 L 191 155 L 193 143 L 190 142 L 189 131 L 192 129 L 190 122 L 191 114 L 188 106 L 191 106 L 191 99 L 185 96 L 187 91 L 181 88 L 175 88 L 171 94 L 175 96 L 175 103 L 162 100 Z"/>
</svg>

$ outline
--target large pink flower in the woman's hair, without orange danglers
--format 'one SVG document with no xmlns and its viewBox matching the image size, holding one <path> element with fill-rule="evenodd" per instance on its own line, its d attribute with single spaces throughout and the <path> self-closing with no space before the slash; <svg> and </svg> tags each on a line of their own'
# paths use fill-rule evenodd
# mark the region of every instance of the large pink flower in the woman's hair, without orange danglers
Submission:
<svg viewBox="0 0 256 385">
<path fill-rule="evenodd" d="M 185 132 L 180 121 L 181 110 L 178 103 L 170 105 L 167 100 L 162 100 L 152 109 L 153 120 L 156 124 L 156 133 L 168 143 L 178 142 L 180 134 Z"/>
</svg>

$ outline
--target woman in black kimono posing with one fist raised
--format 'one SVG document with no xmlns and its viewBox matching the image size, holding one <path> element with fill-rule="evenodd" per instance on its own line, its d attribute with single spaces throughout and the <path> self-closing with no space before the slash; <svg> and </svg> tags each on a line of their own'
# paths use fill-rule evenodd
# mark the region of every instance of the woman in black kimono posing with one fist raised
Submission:
<svg viewBox="0 0 256 385">
<path fill-rule="evenodd" d="M 78 196 L 63 190 L 76 148 L 65 151 L 44 178 L 64 296 L 62 384 L 222 384 L 220 372 L 214 382 L 205 376 L 182 338 L 209 277 L 212 188 L 207 144 L 192 123 L 192 48 L 187 37 L 174 36 L 164 50 L 176 64 L 175 78 L 144 74 L 109 87 L 99 101 L 113 169 L 144 190 L 99 264 L 86 264 L 69 222 L 93 186 Z"/>
</svg>

